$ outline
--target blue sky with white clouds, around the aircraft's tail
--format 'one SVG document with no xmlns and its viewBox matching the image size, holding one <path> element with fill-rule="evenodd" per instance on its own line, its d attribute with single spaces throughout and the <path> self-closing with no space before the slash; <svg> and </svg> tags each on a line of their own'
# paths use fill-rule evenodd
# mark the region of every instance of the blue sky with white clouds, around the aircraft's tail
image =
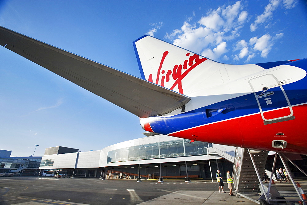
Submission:
<svg viewBox="0 0 307 205">
<path fill-rule="evenodd" d="M 132 42 L 144 34 L 227 64 L 307 57 L 301 0 L 0 0 L 0 25 L 140 77 Z M 0 48 L 0 149 L 99 150 L 145 137 L 138 117 Z"/>
</svg>

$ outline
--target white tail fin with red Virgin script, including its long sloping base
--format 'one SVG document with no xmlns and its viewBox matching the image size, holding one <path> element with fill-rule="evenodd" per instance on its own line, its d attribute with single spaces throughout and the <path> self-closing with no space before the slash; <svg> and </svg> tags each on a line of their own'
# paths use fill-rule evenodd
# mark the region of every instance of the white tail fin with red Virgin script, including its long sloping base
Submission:
<svg viewBox="0 0 307 205">
<path fill-rule="evenodd" d="M 205 95 L 209 87 L 264 70 L 255 64 L 218 63 L 147 35 L 133 45 L 144 80 L 190 97 Z"/>
</svg>

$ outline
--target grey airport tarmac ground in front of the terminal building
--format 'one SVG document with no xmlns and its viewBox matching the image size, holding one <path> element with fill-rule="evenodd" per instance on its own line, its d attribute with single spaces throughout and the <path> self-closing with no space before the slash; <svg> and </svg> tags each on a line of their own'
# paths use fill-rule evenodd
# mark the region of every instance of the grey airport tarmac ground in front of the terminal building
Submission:
<svg viewBox="0 0 307 205">
<path fill-rule="evenodd" d="M 290 190 L 290 184 L 277 184 Z M 307 188 L 307 182 L 301 186 Z M 292 187 L 293 188 L 293 187 Z M 293 188 L 294 189 L 294 188 Z M 229 196 L 227 184 L 220 194 L 211 180 L 99 180 L 52 177 L 0 178 L 0 204 L 256 204 Z"/>
</svg>

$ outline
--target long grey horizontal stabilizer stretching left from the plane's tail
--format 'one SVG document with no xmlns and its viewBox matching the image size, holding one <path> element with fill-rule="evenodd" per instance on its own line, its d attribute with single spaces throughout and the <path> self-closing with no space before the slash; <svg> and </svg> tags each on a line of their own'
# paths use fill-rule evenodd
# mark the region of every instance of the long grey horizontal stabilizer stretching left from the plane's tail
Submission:
<svg viewBox="0 0 307 205">
<path fill-rule="evenodd" d="M 190 98 L 0 26 L 0 44 L 141 117 L 166 114 Z"/>
</svg>

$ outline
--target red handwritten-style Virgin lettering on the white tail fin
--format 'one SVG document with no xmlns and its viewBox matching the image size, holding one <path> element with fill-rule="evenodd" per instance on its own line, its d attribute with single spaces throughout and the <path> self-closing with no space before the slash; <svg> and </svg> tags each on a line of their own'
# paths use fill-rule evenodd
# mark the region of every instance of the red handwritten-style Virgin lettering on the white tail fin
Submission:
<svg viewBox="0 0 307 205">
<path fill-rule="evenodd" d="M 186 56 L 190 56 L 188 60 L 185 60 L 183 65 L 175 65 L 173 70 L 168 70 L 165 74 L 165 69 L 162 69 L 163 62 L 169 54 L 168 51 L 165 51 L 163 53 L 160 66 L 157 72 L 157 79 L 156 79 L 156 84 L 158 85 L 160 75 L 161 75 L 161 86 L 164 87 L 164 81 L 169 82 L 170 80 L 170 75 L 172 74 L 173 80 L 175 80 L 174 84 L 169 88 L 173 90 L 176 86 L 178 86 L 178 90 L 181 94 L 183 94 L 183 89 L 182 89 L 182 79 L 185 78 L 185 76 L 192 71 L 196 66 L 207 60 L 207 58 L 199 58 L 199 55 L 194 54 L 193 56 L 190 56 L 190 53 L 187 53 Z M 183 69 L 183 70 L 182 70 Z M 182 73 L 183 72 L 183 73 Z M 153 74 L 150 74 L 148 77 L 148 81 L 153 83 Z"/>
</svg>

